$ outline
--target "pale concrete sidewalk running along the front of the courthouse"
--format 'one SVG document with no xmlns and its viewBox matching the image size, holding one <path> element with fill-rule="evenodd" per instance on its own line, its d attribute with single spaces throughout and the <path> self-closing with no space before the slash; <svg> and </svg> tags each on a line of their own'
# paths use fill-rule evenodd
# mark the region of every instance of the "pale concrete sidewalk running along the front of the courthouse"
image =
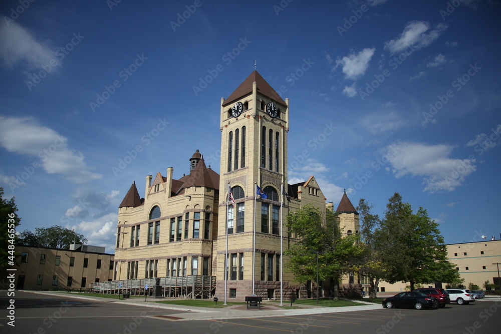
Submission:
<svg viewBox="0 0 501 334">
<path fill-rule="evenodd" d="M 184 306 L 184 305 L 171 305 L 162 304 L 151 301 L 144 301 L 143 298 L 129 298 L 125 300 L 103 298 L 103 297 L 91 297 L 91 296 L 79 296 L 75 293 L 66 292 L 49 292 L 49 291 L 25 291 L 31 293 L 46 294 L 52 296 L 66 297 L 66 298 L 78 298 L 87 300 L 99 300 L 104 302 L 115 302 L 119 304 L 126 305 L 141 305 L 152 308 L 163 308 L 170 310 L 178 310 L 179 313 L 169 314 L 168 318 L 173 320 L 218 320 L 218 319 L 235 319 L 235 318 L 253 318 L 253 317 L 267 317 L 267 316 L 284 316 L 284 315 L 305 315 L 305 314 L 319 314 L 319 313 L 332 313 L 332 312 L 348 312 L 348 311 L 361 311 L 361 310 L 371 310 L 380 309 L 382 306 L 380 304 L 364 304 L 360 306 L 343 306 L 343 307 L 320 307 L 313 306 L 308 308 L 298 308 L 298 309 L 283 309 L 274 306 L 269 303 L 262 304 L 261 309 L 246 309 L 245 305 L 230 305 L 224 308 L 210 308 L 210 307 L 196 307 L 196 306 Z M 159 299 L 161 300 L 161 299 Z M 288 305 L 284 303 L 284 305 Z"/>
</svg>

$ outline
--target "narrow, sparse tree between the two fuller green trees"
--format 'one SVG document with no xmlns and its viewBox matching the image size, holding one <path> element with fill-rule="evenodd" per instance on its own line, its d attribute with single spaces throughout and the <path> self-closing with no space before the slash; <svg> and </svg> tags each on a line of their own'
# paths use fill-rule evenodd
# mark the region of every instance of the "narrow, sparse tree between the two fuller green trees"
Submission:
<svg viewBox="0 0 501 334">
<path fill-rule="evenodd" d="M 369 278 L 369 297 L 376 298 L 380 277 L 384 275 L 384 266 L 380 247 L 384 245 L 378 237 L 379 216 L 371 212 L 374 206 L 361 198 L 357 205 L 360 221 L 360 240 L 364 245 L 365 258 L 360 266 L 360 273 Z"/>
</svg>

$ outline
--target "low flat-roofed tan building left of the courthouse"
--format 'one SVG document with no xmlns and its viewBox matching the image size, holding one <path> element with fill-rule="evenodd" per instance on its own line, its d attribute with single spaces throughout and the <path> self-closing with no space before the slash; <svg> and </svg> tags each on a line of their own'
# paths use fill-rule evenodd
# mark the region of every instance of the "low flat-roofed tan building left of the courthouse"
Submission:
<svg viewBox="0 0 501 334">
<path fill-rule="evenodd" d="M 80 246 L 80 245 L 79 245 Z M 84 250 L 82 250 L 82 248 Z M 103 247 L 83 245 L 70 249 L 16 245 L 19 265 L 14 266 L 17 289 L 63 290 L 89 288 L 112 279 L 114 255 Z M 88 249 L 88 250 L 85 250 Z"/>
</svg>

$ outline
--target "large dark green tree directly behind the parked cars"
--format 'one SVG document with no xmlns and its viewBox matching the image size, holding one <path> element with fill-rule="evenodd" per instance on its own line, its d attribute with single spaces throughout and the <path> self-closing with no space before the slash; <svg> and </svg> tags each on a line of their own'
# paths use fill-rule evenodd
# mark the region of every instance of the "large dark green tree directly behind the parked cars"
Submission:
<svg viewBox="0 0 501 334">
<path fill-rule="evenodd" d="M 384 240 L 383 259 L 389 283 L 405 281 L 411 290 L 415 283 L 452 282 L 459 277 L 447 261 L 447 250 L 438 224 L 420 207 L 413 213 L 395 193 L 387 204 L 378 235 Z"/>
</svg>

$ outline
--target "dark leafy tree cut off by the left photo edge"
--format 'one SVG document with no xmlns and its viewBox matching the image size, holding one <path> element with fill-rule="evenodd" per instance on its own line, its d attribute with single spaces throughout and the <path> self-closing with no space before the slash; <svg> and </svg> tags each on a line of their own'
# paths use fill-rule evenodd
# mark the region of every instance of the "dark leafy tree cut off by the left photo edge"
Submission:
<svg viewBox="0 0 501 334">
<path fill-rule="evenodd" d="M 18 206 L 14 197 L 10 200 L 5 199 L 4 188 L 0 187 L 0 228 L 2 229 L 0 233 L 0 270 L 2 272 L 9 266 L 9 261 L 14 261 L 14 243 L 17 239 L 15 229 L 21 221 L 16 212 L 18 212 Z"/>
</svg>

